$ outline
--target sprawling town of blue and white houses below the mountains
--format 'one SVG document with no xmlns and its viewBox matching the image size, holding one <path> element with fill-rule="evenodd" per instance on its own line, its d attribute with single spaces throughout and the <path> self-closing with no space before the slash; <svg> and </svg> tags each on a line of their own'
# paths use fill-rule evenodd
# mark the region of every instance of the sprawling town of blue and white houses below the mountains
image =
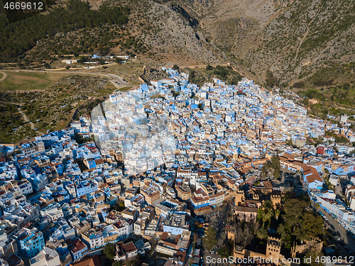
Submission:
<svg viewBox="0 0 355 266">
<path fill-rule="evenodd" d="M 201 265 L 214 256 L 200 249 L 207 223 L 255 222 L 265 201 L 282 210 L 288 193 L 309 196 L 324 228 L 342 228 L 338 250 L 312 240 L 323 254 L 355 251 L 355 132 L 346 117 L 311 118 L 246 78 L 199 87 L 163 70 L 169 78 L 117 90 L 66 129 L 0 147 L 0 265 L 97 266 L 107 245 L 115 262 L 156 254 L 162 265 Z M 285 254 L 273 230 L 258 252 L 236 243 L 229 225 L 222 235 L 235 241 L 233 257 L 291 265 L 281 260 L 305 250 Z"/>
</svg>

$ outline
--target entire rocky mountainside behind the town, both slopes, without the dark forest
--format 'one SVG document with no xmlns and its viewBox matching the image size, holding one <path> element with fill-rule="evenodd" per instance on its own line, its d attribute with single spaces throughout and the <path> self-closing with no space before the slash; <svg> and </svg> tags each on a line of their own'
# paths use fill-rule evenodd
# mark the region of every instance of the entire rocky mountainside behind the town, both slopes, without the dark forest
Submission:
<svg viewBox="0 0 355 266">
<path fill-rule="evenodd" d="M 66 51 L 136 53 L 169 63 L 232 63 L 259 83 L 300 89 L 355 80 L 355 0 L 89 1 L 91 9 L 102 3 L 129 7 L 126 28 L 80 26 L 67 38 L 58 32 L 36 40 L 28 54 L 38 60 Z"/>
</svg>

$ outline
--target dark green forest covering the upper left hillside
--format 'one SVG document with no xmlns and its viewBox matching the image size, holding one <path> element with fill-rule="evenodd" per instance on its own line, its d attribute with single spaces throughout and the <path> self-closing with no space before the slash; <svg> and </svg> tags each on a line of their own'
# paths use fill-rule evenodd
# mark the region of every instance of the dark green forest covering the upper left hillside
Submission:
<svg viewBox="0 0 355 266">
<path fill-rule="evenodd" d="M 89 3 L 70 0 L 66 8 L 55 7 L 46 15 L 9 23 L 0 16 L 0 60 L 5 61 L 33 48 L 37 41 L 56 33 L 67 33 L 80 28 L 94 28 L 104 24 L 123 25 L 128 22 L 129 8 L 102 4 L 98 10 Z"/>
</svg>

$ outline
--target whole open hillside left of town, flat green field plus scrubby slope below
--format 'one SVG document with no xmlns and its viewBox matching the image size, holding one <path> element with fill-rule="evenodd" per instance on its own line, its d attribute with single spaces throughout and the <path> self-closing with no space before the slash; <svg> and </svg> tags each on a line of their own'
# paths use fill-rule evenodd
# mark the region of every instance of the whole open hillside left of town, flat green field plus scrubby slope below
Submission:
<svg viewBox="0 0 355 266">
<path fill-rule="evenodd" d="M 104 96 L 117 90 L 105 75 L 120 75 L 136 85 L 140 84 L 138 75 L 142 71 L 143 63 L 136 62 L 82 70 L 85 74 L 3 71 L 6 77 L 0 81 L 0 143 L 18 142 L 36 135 L 18 112 L 19 107 L 39 132 L 62 129 L 78 107 L 76 118 L 89 115 L 97 100 L 104 100 Z M 92 75 L 95 73 L 102 75 Z M 130 89 L 131 86 L 123 86 L 119 90 Z"/>
</svg>

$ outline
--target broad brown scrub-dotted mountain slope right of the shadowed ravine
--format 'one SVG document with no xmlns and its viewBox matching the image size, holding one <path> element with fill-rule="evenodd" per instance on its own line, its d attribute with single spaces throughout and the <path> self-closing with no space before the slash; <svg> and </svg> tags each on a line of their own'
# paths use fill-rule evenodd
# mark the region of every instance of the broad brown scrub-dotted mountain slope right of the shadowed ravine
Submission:
<svg viewBox="0 0 355 266">
<path fill-rule="evenodd" d="M 354 0 L 180 0 L 240 68 L 281 84 L 354 80 Z M 302 85 L 302 83 L 298 83 Z"/>
</svg>

